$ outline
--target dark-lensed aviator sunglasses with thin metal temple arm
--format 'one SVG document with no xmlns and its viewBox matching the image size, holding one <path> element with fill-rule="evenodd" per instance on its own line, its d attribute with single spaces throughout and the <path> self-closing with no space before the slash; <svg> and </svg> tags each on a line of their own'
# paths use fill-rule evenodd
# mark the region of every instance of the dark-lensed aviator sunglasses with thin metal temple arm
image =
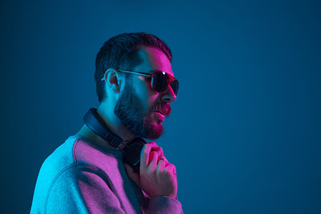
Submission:
<svg viewBox="0 0 321 214">
<path fill-rule="evenodd" d="M 156 71 L 153 73 L 144 73 L 144 72 L 132 71 L 132 70 L 119 70 L 119 71 L 152 78 L 151 86 L 155 92 L 163 92 L 170 86 L 173 89 L 173 92 L 175 95 L 177 95 L 178 93 L 179 84 L 178 84 L 177 78 L 174 78 L 173 76 L 169 75 L 164 71 Z M 102 80 L 104 80 L 104 78 L 102 78 Z"/>
</svg>

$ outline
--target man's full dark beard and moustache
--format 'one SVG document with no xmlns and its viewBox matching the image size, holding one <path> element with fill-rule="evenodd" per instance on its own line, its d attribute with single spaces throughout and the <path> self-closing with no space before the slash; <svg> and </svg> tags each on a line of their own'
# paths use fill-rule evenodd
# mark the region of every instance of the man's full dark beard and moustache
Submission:
<svg viewBox="0 0 321 214">
<path fill-rule="evenodd" d="M 137 95 L 134 94 L 133 86 L 126 84 L 124 89 L 114 109 L 122 124 L 136 136 L 148 139 L 159 138 L 164 131 L 162 124 L 156 123 L 152 121 L 151 117 L 148 117 L 151 111 L 144 111 L 144 105 Z M 152 108 L 154 111 L 161 109 L 163 109 L 166 116 L 169 116 L 169 103 L 156 105 Z"/>
</svg>

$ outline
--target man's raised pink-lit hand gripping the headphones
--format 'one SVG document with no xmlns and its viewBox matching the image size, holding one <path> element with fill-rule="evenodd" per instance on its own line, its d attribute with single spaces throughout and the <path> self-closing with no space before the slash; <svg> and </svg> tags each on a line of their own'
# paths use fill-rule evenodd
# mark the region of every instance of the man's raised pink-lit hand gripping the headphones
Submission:
<svg viewBox="0 0 321 214">
<path fill-rule="evenodd" d="M 150 197 L 177 198 L 177 173 L 173 164 L 164 157 L 161 147 L 151 142 L 144 144 L 141 152 L 139 175 L 128 164 L 125 168 L 136 185 Z"/>
</svg>

